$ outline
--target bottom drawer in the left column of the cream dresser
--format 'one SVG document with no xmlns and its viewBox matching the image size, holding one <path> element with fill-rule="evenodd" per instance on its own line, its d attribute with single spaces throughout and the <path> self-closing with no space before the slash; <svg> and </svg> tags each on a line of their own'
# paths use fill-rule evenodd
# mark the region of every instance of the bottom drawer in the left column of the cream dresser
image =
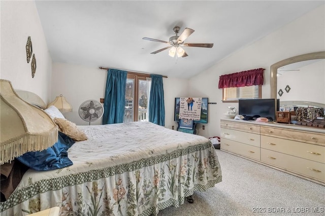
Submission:
<svg viewBox="0 0 325 216">
<path fill-rule="evenodd" d="M 220 149 L 253 158 L 255 160 L 260 160 L 258 147 L 246 145 L 234 140 L 221 138 Z"/>
</svg>

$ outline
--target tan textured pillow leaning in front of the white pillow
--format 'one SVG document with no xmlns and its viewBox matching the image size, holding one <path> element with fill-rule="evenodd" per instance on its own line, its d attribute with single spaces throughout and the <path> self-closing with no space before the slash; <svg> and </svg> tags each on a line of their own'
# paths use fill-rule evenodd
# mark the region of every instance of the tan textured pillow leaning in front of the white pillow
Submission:
<svg viewBox="0 0 325 216">
<path fill-rule="evenodd" d="M 67 134 L 73 140 L 82 141 L 88 139 L 87 135 L 82 130 L 78 129 L 75 123 L 62 118 L 55 118 L 54 122 L 59 126 L 62 133 Z"/>
</svg>

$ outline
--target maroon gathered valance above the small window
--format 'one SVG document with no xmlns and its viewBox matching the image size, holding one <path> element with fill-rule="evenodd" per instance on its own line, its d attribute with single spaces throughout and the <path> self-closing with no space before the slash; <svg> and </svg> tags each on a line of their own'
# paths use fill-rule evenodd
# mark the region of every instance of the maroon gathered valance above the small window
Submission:
<svg viewBox="0 0 325 216">
<path fill-rule="evenodd" d="M 219 77 L 219 89 L 243 86 L 263 85 L 264 68 L 245 70 L 234 74 Z"/>
</svg>

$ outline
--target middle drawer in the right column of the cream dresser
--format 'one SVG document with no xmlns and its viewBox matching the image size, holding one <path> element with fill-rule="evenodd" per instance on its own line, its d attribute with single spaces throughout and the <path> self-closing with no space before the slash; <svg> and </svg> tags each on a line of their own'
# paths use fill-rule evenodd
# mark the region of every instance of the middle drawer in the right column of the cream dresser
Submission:
<svg viewBox="0 0 325 216">
<path fill-rule="evenodd" d="M 261 148 L 325 164 L 324 146 L 261 135 Z"/>
</svg>

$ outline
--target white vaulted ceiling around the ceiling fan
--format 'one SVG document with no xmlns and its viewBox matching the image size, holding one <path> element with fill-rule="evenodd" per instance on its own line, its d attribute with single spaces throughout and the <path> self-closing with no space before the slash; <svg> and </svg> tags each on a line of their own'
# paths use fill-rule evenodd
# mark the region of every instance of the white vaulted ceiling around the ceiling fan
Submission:
<svg viewBox="0 0 325 216">
<path fill-rule="evenodd" d="M 324 1 L 36 1 L 53 62 L 190 78 L 236 50 L 303 16 Z M 173 28 L 195 31 L 172 58 Z M 180 34 L 178 34 L 180 35 Z"/>
</svg>

